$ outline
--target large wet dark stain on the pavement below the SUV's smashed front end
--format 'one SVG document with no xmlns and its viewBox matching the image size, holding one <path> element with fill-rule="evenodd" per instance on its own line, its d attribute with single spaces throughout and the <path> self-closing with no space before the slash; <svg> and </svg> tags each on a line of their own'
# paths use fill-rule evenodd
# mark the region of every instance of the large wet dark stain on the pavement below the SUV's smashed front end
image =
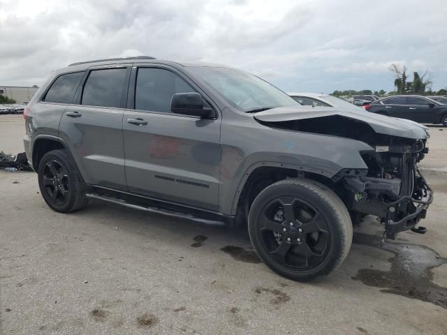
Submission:
<svg viewBox="0 0 447 335">
<path fill-rule="evenodd" d="M 379 239 L 380 237 L 374 235 L 356 233 L 353 243 L 380 248 Z M 447 308 L 447 288 L 432 283 L 431 271 L 434 267 L 446 264 L 446 258 L 439 257 L 430 248 L 415 244 L 387 242 L 381 249 L 394 254 L 390 258 L 390 271 L 359 269 L 354 280 L 383 288 L 381 292 L 403 295 Z"/>
</svg>

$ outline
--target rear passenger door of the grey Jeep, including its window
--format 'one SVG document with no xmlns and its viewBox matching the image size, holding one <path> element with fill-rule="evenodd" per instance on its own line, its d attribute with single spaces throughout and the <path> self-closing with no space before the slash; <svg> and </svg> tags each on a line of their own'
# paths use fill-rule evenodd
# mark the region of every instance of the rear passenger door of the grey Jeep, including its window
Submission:
<svg viewBox="0 0 447 335">
<path fill-rule="evenodd" d="M 122 119 L 131 66 L 97 66 L 61 118 L 60 136 L 87 184 L 126 189 Z"/>
</svg>

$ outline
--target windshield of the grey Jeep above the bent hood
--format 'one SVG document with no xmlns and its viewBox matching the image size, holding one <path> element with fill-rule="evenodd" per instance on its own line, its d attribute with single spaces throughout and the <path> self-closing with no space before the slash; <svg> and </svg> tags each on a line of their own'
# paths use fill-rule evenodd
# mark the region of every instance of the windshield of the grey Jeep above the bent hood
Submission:
<svg viewBox="0 0 447 335">
<path fill-rule="evenodd" d="M 189 70 L 209 84 L 230 105 L 242 112 L 299 105 L 272 84 L 241 70 L 204 66 L 194 66 Z"/>
</svg>

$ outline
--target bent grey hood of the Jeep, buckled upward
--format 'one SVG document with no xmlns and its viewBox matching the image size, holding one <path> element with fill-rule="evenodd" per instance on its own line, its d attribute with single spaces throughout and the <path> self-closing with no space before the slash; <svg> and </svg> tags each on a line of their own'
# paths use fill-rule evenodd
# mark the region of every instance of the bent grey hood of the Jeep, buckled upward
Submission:
<svg viewBox="0 0 447 335">
<path fill-rule="evenodd" d="M 367 112 L 366 110 L 342 110 L 334 107 L 291 106 L 277 107 L 254 114 L 254 118 L 265 122 L 292 121 L 300 119 L 313 119 L 318 117 L 330 117 L 339 115 L 349 119 L 369 124 L 376 133 L 399 137 L 413 138 L 416 140 L 430 137 L 427 127 L 414 121 L 386 117 L 380 114 Z"/>
</svg>

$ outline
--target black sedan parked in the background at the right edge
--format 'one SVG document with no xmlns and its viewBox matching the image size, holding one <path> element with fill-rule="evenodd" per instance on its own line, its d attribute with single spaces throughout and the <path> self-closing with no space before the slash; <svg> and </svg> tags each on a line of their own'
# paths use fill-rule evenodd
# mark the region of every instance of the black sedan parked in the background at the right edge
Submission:
<svg viewBox="0 0 447 335">
<path fill-rule="evenodd" d="M 447 105 L 426 96 L 390 96 L 363 106 L 368 112 L 447 126 Z"/>
</svg>

